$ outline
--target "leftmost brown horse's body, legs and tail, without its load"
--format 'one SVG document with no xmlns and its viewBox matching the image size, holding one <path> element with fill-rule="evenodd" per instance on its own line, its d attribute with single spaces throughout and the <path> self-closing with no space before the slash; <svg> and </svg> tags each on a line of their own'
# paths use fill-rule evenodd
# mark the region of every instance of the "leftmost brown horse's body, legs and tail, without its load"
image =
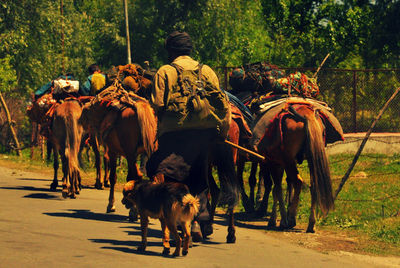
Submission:
<svg viewBox="0 0 400 268">
<path fill-rule="evenodd" d="M 61 155 L 64 198 L 75 198 L 80 191 L 81 176 L 78 163 L 78 152 L 83 133 L 78 122 L 82 114 L 80 103 L 75 99 L 67 99 L 57 105 L 53 114 L 51 141 L 54 148 L 54 180 L 52 189 L 57 187 L 58 154 Z"/>
</svg>

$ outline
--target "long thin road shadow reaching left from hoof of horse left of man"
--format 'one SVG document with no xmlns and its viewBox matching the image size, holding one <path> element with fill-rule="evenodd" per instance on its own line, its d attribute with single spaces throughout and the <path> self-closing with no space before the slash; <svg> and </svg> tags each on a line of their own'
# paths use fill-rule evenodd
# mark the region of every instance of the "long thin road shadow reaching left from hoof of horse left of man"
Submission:
<svg viewBox="0 0 400 268">
<path fill-rule="evenodd" d="M 69 212 L 46 212 L 43 213 L 53 217 L 67 217 L 95 221 L 109 221 L 109 222 L 128 222 L 127 216 L 107 214 L 107 213 L 94 213 L 86 209 L 69 209 Z"/>
</svg>

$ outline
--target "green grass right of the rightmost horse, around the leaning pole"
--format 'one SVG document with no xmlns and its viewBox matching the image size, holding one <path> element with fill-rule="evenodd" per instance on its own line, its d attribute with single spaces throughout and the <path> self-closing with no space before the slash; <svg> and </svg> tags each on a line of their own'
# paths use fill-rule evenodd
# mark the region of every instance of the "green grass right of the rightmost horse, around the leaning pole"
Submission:
<svg viewBox="0 0 400 268">
<path fill-rule="evenodd" d="M 353 155 L 330 156 L 334 192 L 346 173 Z M 307 163 L 300 174 L 309 184 Z M 307 223 L 310 211 L 308 189 L 302 191 L 299 222 Z M 326 218 L 319 213 L 317 227 L 355 231 L 369 242 L 366 252 L 400 256 L 400 155 L 362 155 Z M 380 243 L 380 242 L 383 242 Z"/>
</svg>

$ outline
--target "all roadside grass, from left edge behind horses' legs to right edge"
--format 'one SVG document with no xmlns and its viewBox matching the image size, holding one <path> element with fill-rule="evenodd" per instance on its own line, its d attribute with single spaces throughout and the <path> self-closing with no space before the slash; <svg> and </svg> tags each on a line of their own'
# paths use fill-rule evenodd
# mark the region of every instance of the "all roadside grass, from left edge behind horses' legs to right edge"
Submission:
<svg viewBox="0 0 400 268">
<path fill-rule="evenodd" d="M 82 168 L 82 181 L 85 186 L 95 183 L 94 157 L 88 162 L 83 154 L 85 167 Z M 353 160 L 353 155 L 332 155 L 329 157 L 333 191 L 336 191 L 343 175 Z M 11 154 L 0 154 L 0 165 L 31 172 L 40 172 L 53 178 L 53 162 L 41 159 L 39 149 L 33 158 L 30 150 L 23 151 L 22 157 Z M 309 174 L 307 162 L 299 166 L 304 179 L 298 209 L 298 225 L 306 226 L 310 211 L 310 193 L 308 190 Z M 118 183 L 125 181 L 127 174 L 126 160 L 121 158 L 117 168 Z M 245 167 L 245 184 L 248 192 L 247 178 L 250 164 Z M 217 175 L 214 173 L 215 178 Z M 61 162 L 58 178 L 61 179 Z M 285 183 L 285 180 L 283 180 Z M 117 190 L 120 187 L 116 187 Z M 272 207 L 272 196 L 268 209 Z M 239 202 L 238 212 L 244 211 Z M 317 229 L 345 232 L 357 237 L 361 243 L 360 251 L 377 255 L 400 256 L 400 154 L 387 156 L 381 154 L 361 155 L 350 178 L 335 202 L 335 209 L 322 217 L 318 213 Z M 318 230 L 317 230 L 318 231 Z"/>
</svg>

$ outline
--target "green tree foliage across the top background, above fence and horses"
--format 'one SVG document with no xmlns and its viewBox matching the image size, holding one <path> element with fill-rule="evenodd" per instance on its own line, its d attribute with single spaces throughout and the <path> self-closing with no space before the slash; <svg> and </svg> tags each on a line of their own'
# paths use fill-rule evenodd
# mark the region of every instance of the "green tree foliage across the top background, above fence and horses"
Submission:
<svg viewBox="0 0 400 268">
<path fill-rule="evenodd" d="M 0 79 L 13 77 L 15 83 L 8 87 L 17 94 L 28 96 L 61 72 L 83 80 L 93 62 L 103 69 L 126 63 L 123 1 L 63 0 L 63 16 L 60 2 L 0 4 Z M 256 61 L 316 67 L 327 53 L 329 67 L 398 67 L 400 62 L 400 1 L 128 3 L 133 60 L 148 60 L 154 68 L 166 62 L 164 39 L 173 30 L 187 31 L 194 40 L 194 57 L 214 67 Z"/>
</svg>

